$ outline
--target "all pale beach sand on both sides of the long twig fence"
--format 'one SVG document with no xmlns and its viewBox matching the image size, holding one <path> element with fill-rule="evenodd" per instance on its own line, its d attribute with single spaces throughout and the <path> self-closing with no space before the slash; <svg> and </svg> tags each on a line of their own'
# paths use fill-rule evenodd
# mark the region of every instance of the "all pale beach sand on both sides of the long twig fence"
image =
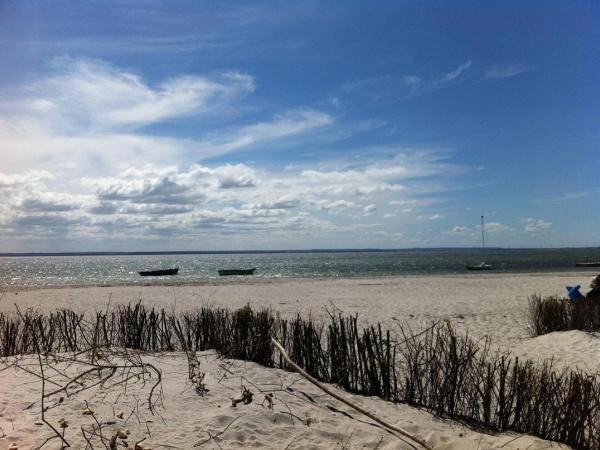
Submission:
<svg viewBox="0 0 600 450">
<path fill-rule="evenodd" d="M 57 307 L 78 310 L 104 309 L 111 304 L 135 302 L 141 299 L 149 306 L 193 309 L 202 305 L 239 307 L 246 303 L 269 306 L 284 315 L 300 312 L 323 317 L 335 306 L 347 314 L 359 314 L 364 322 L 381 321 L 390 328 L 396 320 L 411 327 L 440 319 L 450 319 L 461 330 L 477 339 L 489 336 L 494 344 L 509 347 L 519 356 L 554 357 L 559 363 L 600 371 L 598 337 L 581 332 L 552 333 L 532 339 L 527 330 L 527 296 L 563 294 L 567 284 L 587 284 L 592 273 L 547 274 L 469 274 L 461 276 L 407 276 L 371 279 L 288 280 L 277 282 L 218 283 L 198 286 L 128 286 L 63 288 L 26 291 L 6 291 L 0 299 L 0 311 L 19 307 L 34 307 L 51 311 Z M 210 392 L 200 397 L 187 383 L 187 363 L 181 354 L 160 358 L 148 357 L 163 370 L 164 403 L 160 417 L 152 416 L 142 405 L 138 417 L 127 423 L 115 419 L 114 411 L 129 411 L 136 399 L 143 402 L 146 387 L 131 388 L 128 395 L 116 399 L 114 392 L 100 388 L 78 394 L 49 411 L 55 423 L 59 417 L 70 421 L 67 437 L 72 448 L 85 448 L 80 426 L 89 427 L 93 420 L 82 416 L 84 400 L 88 400 L 99 420 L 116 420 L 106 427 L 131 430 L 130 444 L 147 436 L 144 445 L 161 448 L 194 448 L 194 444 L 214 436 L 239 417 L 221 436 L 200 448 L 412 448 L 368 419 L 322 396 L 320 391 L 299 376 L 280 370 L 265 369 L 252 363 L 231 362 L 229 370 L 214 355 L 202 360 Z M 30 361 L 31 362 L 31 361 Z M 32 362 L 35 368 L 35 361 Z M 241 378 L 244 377 L 244 378 Z M 295 382 L 295 383 L 294 383 Z M 231 407 L 231 398 L 239 396 L 240 383 L 255 393 L 250 405 Z M 282 390 L 292 385 L 293 392 Z M 146 389 L 146 391 L 144 391 Z M 275 390 L 275 407 L 271 411 L 260 403 L 260 390 Z M 307 393 L 314 403 L 299 391 Z M 146 392 L 146 394 L 144 394 Z M 8 368 L 0 372 L 0 450 L 17 442 L 20 449 L 39 446 L 50 436 L 48 428 L 34 425 L 39 420 L 39 406 L 23 411 L 40 395 L 40 383 L 21 369 Z M 558 444 L 517 434 L 489 436 L 476 433 L 451 421 L 441 421 L 430 414 L 406 405 L 393 405 L 382 400 L 343 393 L 382 418 L 426 439 L 436 449 L 542 449 L 559 448 Z M 332 412 L 328 406 L 347 412 Z M 114 411 L 113 411 L 114 409 Z M 297 418 L 293 423 L 289 413 L 310 418 L 310 426 Z M 138 418 L 140 419 L 138 421 Z M 164 419 L 164 422 L 163 422 Z M 359 420 L 360 419 L 360 420 Z M 151 422 L 146 422 L 151 420 Z M 381 442 L 380 442 L 381 440 Z M 58 448 L 52 441 L 44 448 Z M 562 446 L 561 448 L 567 448 Z"/>
</svg>

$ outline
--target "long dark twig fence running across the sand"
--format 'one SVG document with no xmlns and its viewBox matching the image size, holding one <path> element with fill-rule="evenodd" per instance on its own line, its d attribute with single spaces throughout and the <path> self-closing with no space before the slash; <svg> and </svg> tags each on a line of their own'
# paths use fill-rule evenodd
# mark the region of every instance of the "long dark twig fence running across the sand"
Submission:
<svg viewBox="0 0 600 450">
<path fill-rule="evenodd" d="M 290 357 L 320 381 L 349 392 L 426 408 L 440 417 L 491 431 L 515 431 L 600 448 L 600 383 L 552 363 L 521 361 L 459 336 L 449 323 L 418 334 L 395 334 L 380 325 L 361 328 L 356 317 L 326 323 L 297 316 L 285 320 L 269 309 L 202 308 L 171 313 L 141 304 L 92 315 L 58 310 L 0 314 L 0 356 L 76 352 L 117 346 L 141 351 L 204 351 L 254 361 L 285 363 Z"/>
</svg>

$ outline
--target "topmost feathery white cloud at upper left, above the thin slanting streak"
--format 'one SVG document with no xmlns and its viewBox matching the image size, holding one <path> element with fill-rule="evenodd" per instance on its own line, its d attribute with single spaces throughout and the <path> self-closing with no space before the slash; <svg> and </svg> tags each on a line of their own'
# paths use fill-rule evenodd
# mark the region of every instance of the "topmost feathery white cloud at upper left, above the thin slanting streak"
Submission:
<svg viewBox="0 0 600 450">
<path fill-rule="evenodd" d="M 103 61 L 59 58 L 55 74 L 27 87 L 16 106 L 54 129 L 111 130 L 214 111 L 254 90 L 251 76 L 227 72 L 169 78 L 156 87 L 139 75 Z"/>
</svg>

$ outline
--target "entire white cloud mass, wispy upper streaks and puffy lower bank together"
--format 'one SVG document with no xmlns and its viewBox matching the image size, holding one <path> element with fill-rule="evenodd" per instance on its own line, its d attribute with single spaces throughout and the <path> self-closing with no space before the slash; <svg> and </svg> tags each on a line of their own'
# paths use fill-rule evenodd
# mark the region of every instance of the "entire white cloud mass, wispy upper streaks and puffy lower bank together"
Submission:
<svg viewBox="0 0 600 450">
<path fill-rule="evenodd" d="M 219 245 L 215 235 L 265 245 L 271 245 L 265 236 L 289 242 L 292 231 L 319 239 L 343 232 L 364 241 L 365 229 L 400 236 L 395 228 L 427 214 L 423 207 L 440 189 L 423 180 L 456 173 L 442 152 L 406 148 L 358 149 L 361 157 L 282 170 L 256 163 L 209 166 L 199 161 L 267 145 L 285 148 L 323 129 L 335 135 L 340 127 L 331 127 L 338 124 L 330 114 L 307 107 L 270 118 L 255 114 L 254 120 L 234 112 L 235 121 L 229 120 L 228 108 L 254 89 L 252 77 L 237 72 L 150 83 L 99 61 L 62 63 L 0 101 L 0 193 L 7 199 L 0 202 L 0 245 L 46 245 L 48 237 L 99 246 L 204 239 L 227 248 L 233 241 Z M 167 136 L 157 131 L 163 127 L 146 127 L 188 118 L 188 125 L 201 124 L 214 111 L 228 125 L 210 133 L 185 127 Z M 394 224 L 360 223 L 375 211 L 390 218 L 413 209 L 415 215 L 400 215 Z"/>
</svg>

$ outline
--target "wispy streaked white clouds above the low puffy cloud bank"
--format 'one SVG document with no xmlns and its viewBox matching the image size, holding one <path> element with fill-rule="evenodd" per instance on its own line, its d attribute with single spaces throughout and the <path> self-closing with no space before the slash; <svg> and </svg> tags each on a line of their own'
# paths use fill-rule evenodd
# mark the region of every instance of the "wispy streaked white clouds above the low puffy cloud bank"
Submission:
<svg viewBox="0 0 600 450">
<path fill-rule="evenodd" d="M 233 108 L 234 101 L 253 90 L 252 77 L 240 72 L 175 76 L 150 85 L 102 61 L 56 60 L 49 75 L 15 86 L 0 101 L 2 170 L 43 169 L 67 179 L 114 173 L 127 165 L 189 165 L 334 122 L 325 112 L 299 108 L 271 120 L 204 131 L 208 115 L 237 117 L 244 108 Z M 144 128 L 185 118 L 197 124 L 186 136 Z"/>
</svg>

